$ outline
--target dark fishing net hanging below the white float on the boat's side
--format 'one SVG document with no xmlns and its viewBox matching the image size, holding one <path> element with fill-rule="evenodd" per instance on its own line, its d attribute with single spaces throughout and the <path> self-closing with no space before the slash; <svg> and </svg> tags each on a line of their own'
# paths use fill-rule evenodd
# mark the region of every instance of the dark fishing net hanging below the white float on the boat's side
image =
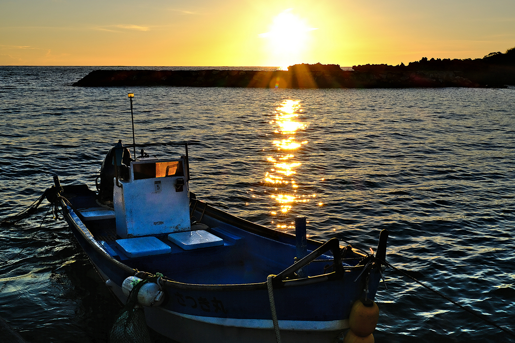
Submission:
<svg viewBox="0 0 515 343">
<path fill-rule="evenodd" d="M 140 281 L 132 288 L 125 307 L 111 328 L 110 343 L 151 343 L 145 313 L 138 304 L 138 292 L 146 282 L 147 280 Z"/>
</svg>

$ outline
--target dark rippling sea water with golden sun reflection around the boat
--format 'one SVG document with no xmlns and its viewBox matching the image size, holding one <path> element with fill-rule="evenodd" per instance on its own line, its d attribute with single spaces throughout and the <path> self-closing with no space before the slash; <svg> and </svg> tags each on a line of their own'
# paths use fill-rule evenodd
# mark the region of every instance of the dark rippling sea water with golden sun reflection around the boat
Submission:
<svg viewBox="0 0 515 343">
<path fill-rule="evenodd" d="M 515 88 L 79 88 L 96 67 L 0 67 L 0 218 L 52 186 L 87 183 L 107 151 L 195 141 L 191 190 L 279 230 L 387 261 L 515 331 Z M 173 148 L 148 153 L 175 157 Z M 121 306 L 46 201 L 0 227 L 0 316 L 31 342 L 107 342 Z M 513 338 L 385 272 L 376 342 Z M 1 339 L 0 339 L 1 340 Z"/>
</svg>

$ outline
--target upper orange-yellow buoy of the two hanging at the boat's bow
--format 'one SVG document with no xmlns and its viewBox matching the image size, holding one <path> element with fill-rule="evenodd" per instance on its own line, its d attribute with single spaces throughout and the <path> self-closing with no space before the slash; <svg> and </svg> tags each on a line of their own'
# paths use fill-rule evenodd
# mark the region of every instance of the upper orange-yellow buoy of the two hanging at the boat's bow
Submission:
<svg viewBox="0 0 515 343">
<path fill-rule="evenodd" d="M 379 307 L 370 299 L 356 300 L 349 316 L 349 326 L 354 334 L 367 337 L 374 330 L 379 319 Z"/>
</svg>

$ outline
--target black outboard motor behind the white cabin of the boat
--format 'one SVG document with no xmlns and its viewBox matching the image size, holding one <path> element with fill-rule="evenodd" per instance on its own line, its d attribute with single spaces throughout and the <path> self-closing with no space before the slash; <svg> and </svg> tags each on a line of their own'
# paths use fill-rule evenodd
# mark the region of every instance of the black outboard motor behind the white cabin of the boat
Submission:
<svg viewBox="0 0 515 343">
<path fill-rule="evenodd" d="M 122 140 L 118 140 L 118 143 L 109 150 L 102 167 L 100 168 L 100 175 L 97 176 L 96 188 L 98 190 L 98 201 L 102 204 L 112 205 L 113 204 L 113 179 L 116 176 L 114 158 L 116 158 L 116 166 L 118 167 L 118 178 L 129 179 L 129 165 L 133 161 L 130 155 L 130 151 L 124 148 Z M 98 177 L 100 177 L 100 184 L 98 183 Z"/>
</svg>

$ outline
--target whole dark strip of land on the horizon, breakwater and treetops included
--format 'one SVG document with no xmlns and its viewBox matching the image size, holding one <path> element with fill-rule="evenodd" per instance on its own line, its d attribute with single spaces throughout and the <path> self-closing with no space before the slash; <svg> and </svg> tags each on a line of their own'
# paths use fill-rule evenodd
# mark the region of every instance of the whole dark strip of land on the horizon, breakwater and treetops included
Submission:
<svg viewBox="0 0 515 343">
<path fill-rule="evenodd" d="M 482 59 L 434 59 L 352 66 L 296 64 L 288 70 L 93 70 L 80 87 L 192 86 L 254 88 L 505 87 L 515 85 L 515 47 Z"/>
</svg>

